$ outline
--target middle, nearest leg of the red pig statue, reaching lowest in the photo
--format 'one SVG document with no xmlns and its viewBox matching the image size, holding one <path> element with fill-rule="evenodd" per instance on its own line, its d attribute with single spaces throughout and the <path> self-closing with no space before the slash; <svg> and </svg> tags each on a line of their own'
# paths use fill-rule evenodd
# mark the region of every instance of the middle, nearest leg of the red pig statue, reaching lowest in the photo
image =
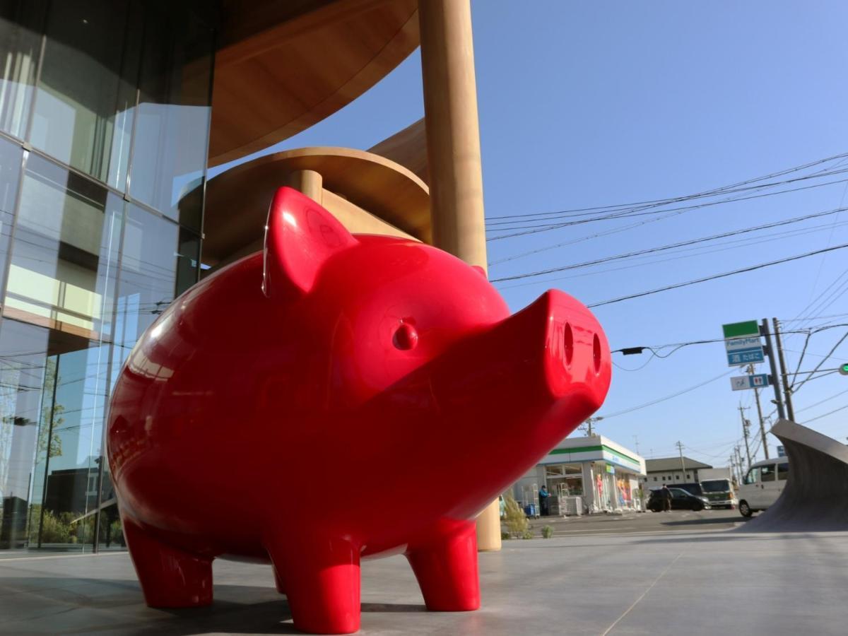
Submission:
<svg viewBox="0 0 848 636">
<path fill-rule="evenodd" d="M 276 588 L 285 591 L 294 627 L 309 633 L 354 633 L 360 628 L 360 550 L 343 538 L 265 541 Z"/>
</svg>

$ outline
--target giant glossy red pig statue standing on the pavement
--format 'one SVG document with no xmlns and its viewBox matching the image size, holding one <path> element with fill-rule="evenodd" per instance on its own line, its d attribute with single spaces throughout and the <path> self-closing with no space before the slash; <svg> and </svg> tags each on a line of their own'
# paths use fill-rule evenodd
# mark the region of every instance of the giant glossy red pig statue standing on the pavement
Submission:
<svg viewBox="0 0 848 636">
<path fill-rule="evenodd" d="M 604 333 L 550 291 L 516 315 L 436 248 L 351 236 L 281 188 L 264 254 L 177 298 L 114 389 L 108 451 L 149 605 L 271 561 L 299 629 L 360 622 L 360 559 L 407 555 L 427 607 L 480 604 L 474 517 L 600 407 Z"/>
</svg>

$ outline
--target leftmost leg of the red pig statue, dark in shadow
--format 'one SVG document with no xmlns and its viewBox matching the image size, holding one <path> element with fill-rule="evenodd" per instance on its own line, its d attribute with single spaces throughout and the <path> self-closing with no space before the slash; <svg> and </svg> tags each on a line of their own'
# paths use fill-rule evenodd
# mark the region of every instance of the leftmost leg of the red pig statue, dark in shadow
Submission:
<svg viewBox="0 0 848 636">
<path fill-rule="evenodd" d="M 124 518 L 124 537 L 150 607 L 198 607 L 212 602 L 212 560 L 161 543 Z"/>
</svg>

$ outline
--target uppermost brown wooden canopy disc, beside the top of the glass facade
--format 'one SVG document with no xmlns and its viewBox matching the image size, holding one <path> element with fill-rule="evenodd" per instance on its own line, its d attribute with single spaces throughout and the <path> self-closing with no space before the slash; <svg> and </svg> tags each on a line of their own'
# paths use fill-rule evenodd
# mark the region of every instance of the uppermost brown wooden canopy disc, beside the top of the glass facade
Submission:
<svg viewBox="0 0 848 636">
<path fill-rule="evenodd" d="M 418 47 L 417 0 L 225 0 L 209 165 L 335 113 Z"/>
</svg>

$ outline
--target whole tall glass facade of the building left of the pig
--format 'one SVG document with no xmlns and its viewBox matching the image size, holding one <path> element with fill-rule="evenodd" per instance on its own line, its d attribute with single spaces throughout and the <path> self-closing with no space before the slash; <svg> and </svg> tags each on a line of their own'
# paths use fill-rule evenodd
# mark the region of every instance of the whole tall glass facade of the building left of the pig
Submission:
<svg viewBox="0 0 848 636">
<path fill-rule="evenodd" d="M 120 365 L 198 280 L 203 3 L 0 3 L 0 549 L 121 549 Z"/>
</svg>

